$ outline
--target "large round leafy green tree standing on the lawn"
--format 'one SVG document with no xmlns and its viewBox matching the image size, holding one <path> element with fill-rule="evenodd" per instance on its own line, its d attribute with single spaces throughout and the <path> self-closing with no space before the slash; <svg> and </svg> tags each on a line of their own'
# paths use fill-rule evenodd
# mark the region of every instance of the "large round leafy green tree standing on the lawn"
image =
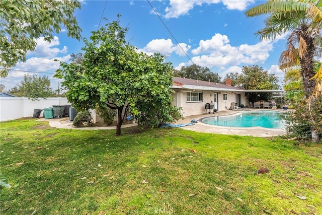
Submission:
<svg viewBox="0 0 322 215">
<path fill-rule="evenodd" d="M 118 112 L 116 135 L 127 112 L 140 126 L 158 126 L 180 116 L 173 102 L 172 66 L 159 54 L 137 53 L 125 40 L 128 28 L 113 21 L 84 39 L 82 64 L 61 62 L 55 77 L 63 78 L 73 106 L 89 109 L 105 105 Z"/>
</svg>

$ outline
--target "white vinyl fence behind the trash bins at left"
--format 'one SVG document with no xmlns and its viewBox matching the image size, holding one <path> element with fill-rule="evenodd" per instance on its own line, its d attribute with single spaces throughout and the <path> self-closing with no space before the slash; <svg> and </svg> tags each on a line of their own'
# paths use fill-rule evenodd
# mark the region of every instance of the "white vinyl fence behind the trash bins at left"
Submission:
<svg viewBox="0 0 322 215">
<path fill-rule="evenodd" d="M 34 114 L 34 109 L 49 108 L 53 105 L 69 105 L 67 98 L 39 98 L 40 101 L 32 101 L 25 97 L 0 97 L 0 121 L 30 117 Z M 42 117 L 44 111 L 40 113 Z"/>
</svg>

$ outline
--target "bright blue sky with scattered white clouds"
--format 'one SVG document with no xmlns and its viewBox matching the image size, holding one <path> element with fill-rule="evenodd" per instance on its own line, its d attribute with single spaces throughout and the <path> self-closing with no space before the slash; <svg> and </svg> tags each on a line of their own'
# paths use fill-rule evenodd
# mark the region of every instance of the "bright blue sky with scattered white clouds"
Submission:
<svg viewBox="0 0 322 215">
<path fill-rule="evenodd" d="M 176 69 L 197 64 L 208 67 L 222 78 L 245 65 L 259 65 L 275 74 L 282 86 L 284 73 L 278 59 L 285 50 L 287 34 L 274 41 L 260 41 L 255 33 L 265 27 L 267 16 L 247 18 L 245 12 L 266 1 L 254 0 L 170 0 L 170 1 L 84 1 L 74 16 L 82 28 L 82 37 L 89 39 L 92 31 L 107 21 L 117 20 L 129 30 L 126 39 L 138 51 L 159 52 Z M 153 8 L 152 8 L 152 7 Z M 154 9 L 154 10 L 153 10 Z M 156 13 L 158 16 L 156 15 Z M 162 21 L 161 21 L 162 20 Z M 62 26 L 49 43 L 38 38 L 35 51 L 27 53 L 27 61 L 19 62 L 1 78 L 5 90 L 20 84 L 26 71 L 30 75 L 48 76 L 53 90 L 63 80 L 53 78 L 59 68 L 58 59 L 68 62 L 71 53 L 82 52 L 83 40 L 67 36 Z"/>
</svg>

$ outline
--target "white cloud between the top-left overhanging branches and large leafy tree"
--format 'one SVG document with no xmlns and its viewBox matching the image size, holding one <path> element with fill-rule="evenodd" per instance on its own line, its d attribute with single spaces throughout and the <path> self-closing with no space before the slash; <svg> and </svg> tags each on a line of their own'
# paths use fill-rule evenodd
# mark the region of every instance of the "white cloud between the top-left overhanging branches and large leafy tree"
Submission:
<svg viewBox="0 0 322 215">
<path fill-rule="evenodd" d="M 67 47 L 64 46 L 62 49 L 56 48 L 54 46 L 59 45 L 59 39 L 57 36 L 54 36 L 51 42 L 45 41 L 44 37 L 36 39 L 36 48 L 34 51 L 28 51 L 28 55 L 34 55 L 38 57 L 54 57 L 58 53 L 66 53 Z"/>
</svg>

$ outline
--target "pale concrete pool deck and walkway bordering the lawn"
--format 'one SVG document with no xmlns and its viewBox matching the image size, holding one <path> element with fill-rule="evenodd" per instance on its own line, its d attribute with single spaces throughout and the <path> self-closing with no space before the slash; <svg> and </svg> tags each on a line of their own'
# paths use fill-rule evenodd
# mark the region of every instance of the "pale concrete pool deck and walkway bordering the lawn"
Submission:
<svg viewBox="0 0 322 215">
<path fill-rule="evenodd" d="M 185 119 L 180 119 L 176 123 L 172 124 L 186 124 L 190 123 L 192 119 L 198 119 L 207 117 L 207 116 L 223 116 L 223 115 L 231 115 L 234 114 L 241 109 L 237 110 L 223 110 L 216 113 L 211 114 L 201 114 L 194 116 L 187 116 Z M 245 109 L 245 110 L 259 110 L 259 109 Z M 49 121 L 49 126 L 56 128 L 66 128 L 66 129 L 79 129 L 79 130 L 99 130 L 99 129 L 116 129 L 116 126 L 106 126 L 106 127 L 74 127 L 72 126 L 72 122 L 68 121 L 68 118 L 60 118 L 60 119 L 45 119 L 40 118 L 40 121 Z M 136 126 L 136 123 L 133 124 L 124 124 L 122 128 Z M 251 136 L 259 136 L 259 137 L 270 137 L 270 136 L 279 136 L 285 135 L 286 130 L 284 128 L 263 128 L 263 127 L 225 127 L 218 125 L 209 125 L 202 122 L 195 123 L 194 125 L 180 127 L 186 130 L 192 130 L 197 132 L 204 133 L 217 133 L 217 134 L 236 134 L 236 135 L 251 135 Z"/>
</svg>

